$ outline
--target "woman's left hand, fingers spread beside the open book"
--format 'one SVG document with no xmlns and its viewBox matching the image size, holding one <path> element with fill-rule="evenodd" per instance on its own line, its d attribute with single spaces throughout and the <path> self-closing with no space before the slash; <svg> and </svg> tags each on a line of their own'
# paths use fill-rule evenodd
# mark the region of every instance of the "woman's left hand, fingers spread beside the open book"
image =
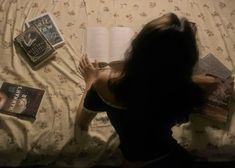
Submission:
<svg viewBox="0 0 235 168">
<path fill-rule="evenodd" d="M 90 86 L 96 81 L 99 75 L 98 64 L 96 61 L 94 64 L 92 64 L 85 54 L 82 56 L 79 65 L 81 67 L 81 72 L 82 76 L 84 77 L 86 87 L 90 88 Z"/>
</svg>

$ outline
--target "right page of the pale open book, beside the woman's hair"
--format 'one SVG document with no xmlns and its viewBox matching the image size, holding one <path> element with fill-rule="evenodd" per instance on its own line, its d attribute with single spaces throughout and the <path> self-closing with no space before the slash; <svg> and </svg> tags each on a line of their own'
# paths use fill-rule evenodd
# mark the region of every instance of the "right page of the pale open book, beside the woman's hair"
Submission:
<svg viewBox="0 0 235 168">
<path fill-rule="evenodd" d="M 129 48 L 134 32 L 129 27 L 112 27 L 110 30 L 110 57 L 109 62 L 124 58 Z"/>
</svg>

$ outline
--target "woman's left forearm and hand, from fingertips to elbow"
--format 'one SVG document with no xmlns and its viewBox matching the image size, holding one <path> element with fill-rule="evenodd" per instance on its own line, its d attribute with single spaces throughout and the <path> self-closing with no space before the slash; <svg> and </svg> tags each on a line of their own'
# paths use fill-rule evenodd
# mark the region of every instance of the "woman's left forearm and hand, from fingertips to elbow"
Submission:
<svg viewBox="0 0 235 168">
<path fill-rule="evenodd" d="M 79 65 L 81 67 L 81 72 L 86 83 L 86 88 L 78 107 L 77 123 L 82 130 L 88 130 L 89 124 L 92 119 L 96 116 L 96 113 L 87 113 L 84 111 L 84 98 L 86 97 L 87 91 L 90 89 L 92 84 L 97 80 L 99 68 L 97 62 L 92 64 L 88 60 L 87 55 L 82 56 Z"/>
</svg>

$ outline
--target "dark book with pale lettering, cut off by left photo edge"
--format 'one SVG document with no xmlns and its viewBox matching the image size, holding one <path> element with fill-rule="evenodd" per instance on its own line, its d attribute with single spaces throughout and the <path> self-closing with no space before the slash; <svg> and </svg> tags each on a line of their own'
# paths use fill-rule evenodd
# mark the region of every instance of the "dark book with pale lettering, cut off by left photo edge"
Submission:
<svg viewBox="0 0 235 168">
<path fill-rule="evenodd" d="M 0 83 L 0 112 L 35 118 L 44 90 L 7 82 Z"/>
</svg>

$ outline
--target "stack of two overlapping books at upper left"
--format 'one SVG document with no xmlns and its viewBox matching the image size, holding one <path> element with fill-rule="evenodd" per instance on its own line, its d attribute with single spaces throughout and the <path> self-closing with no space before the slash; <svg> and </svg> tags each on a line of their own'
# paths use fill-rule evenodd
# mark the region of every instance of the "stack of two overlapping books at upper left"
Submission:
<svg viewBox="0 0 235 168">
<path fill-rule="evenodd" d="M 26 21 L 26 27 L 15 38 L 15 44 L 32 68 L 38 69 L 55 55 L 55 49 L 64 44 L 64 39 L 49 13 Z"/>
</svg>

